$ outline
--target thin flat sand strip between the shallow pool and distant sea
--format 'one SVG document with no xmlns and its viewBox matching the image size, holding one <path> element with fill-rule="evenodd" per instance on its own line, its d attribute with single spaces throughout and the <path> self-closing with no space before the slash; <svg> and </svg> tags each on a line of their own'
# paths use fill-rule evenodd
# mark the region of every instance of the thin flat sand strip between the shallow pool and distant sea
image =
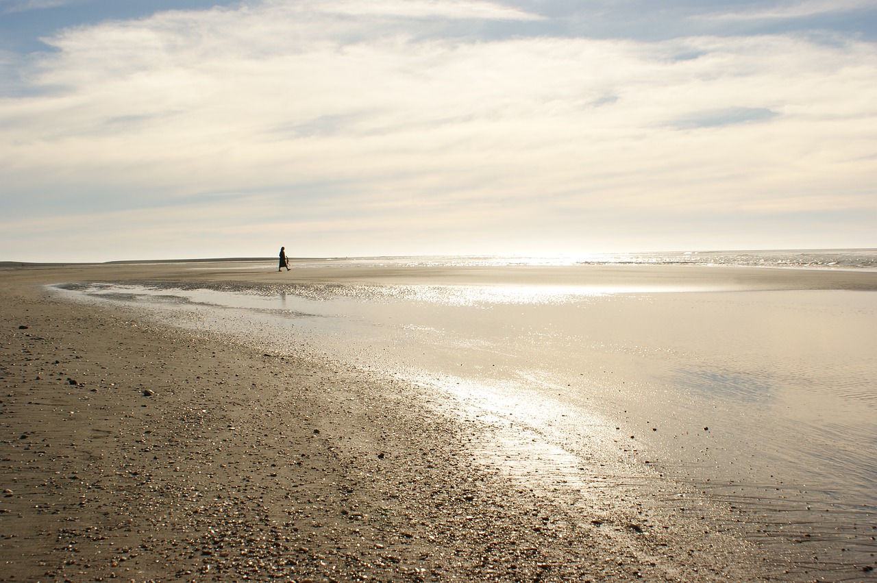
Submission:
<svg viewBox="0 0 877 583">
<path fill-rule="evenodd" d="M 217 267 L 193 269 L 189 261 L 118 262 L 111 264 L 39 264 L 26 267 L 0 267 L 0 274 L 34 285 L 52 285 L 94 281 L 117 282 L 238 282 L 305 284 L 334 283 L 420 283 L 446 281 L 451 285 L 483 283 L 530 284 L 534 279 L 551 285 L 581 284 L 583 278 L 594 285 L 617 285 L 636 279 L 656 287 L 691 290 L 754 291 L 848 289 L 877 291 L 877 270 L 871 268 L 775 267 L 775 266 L 704 266 L 704 265 L 578 265 L 571 276 L 569 267 L 518 266 L 348 266 L 326 268 L 324 261 L 292 265 L 291 272 L 275 271 L 274 260 L 266 261 L 263 269 L 243 261 L 246 268 L 228 262 L 210 260 L 196 264 Z M 258 277 L 255 277 L 258 276 Z M 683 289 L 683 290 L 684 290 Z"/>
</svg>

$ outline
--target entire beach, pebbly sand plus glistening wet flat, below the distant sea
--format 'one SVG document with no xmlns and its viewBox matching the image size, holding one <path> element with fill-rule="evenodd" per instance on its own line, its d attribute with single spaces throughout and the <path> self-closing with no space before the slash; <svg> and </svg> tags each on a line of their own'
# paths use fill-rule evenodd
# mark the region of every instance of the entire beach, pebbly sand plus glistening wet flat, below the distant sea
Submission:
<svg viewBox="0 0 877 583">
<path fill-rule="evenodd" d="M 256 287 L 285 297 L 286 307 L 259 320 L 256 334 L 234 324 L 237 316 L 217 325 L 216 309 L 209 323 L 201 309 L 173 311 L 180 329 L 161 316 L 166 311 L 145 318 L 130 302 L 69 302 L 41 287 L 74 281 L 235 294 Z M 357 314 L 366 309 L 357 300 L 362 287 L 370 322 L 381 323 L 370 332 L 344 324 L 333 337 L 310 330 L 307 317 L 278 317 L 299 304 L 337 306 L 339 296 L 346 314 Z M 72 580 L 97 572 L 868 580 L 867 512 L 846 503 L 807 508 L 819 497 L 800 476 L 781 483 L 763 473 L 771 466 L 763 462 L 807 451 L 781 439 L 795 435 L 795 424 L 818 426 L 827 413 L 856 428 L 838 435 L 873 438 L 875 287 L 877 274 L 868 272 L 734 267 L 303 264 L 277 274 L 205 263 L 4 271 L 11 325 L 0 405 L 8 460 L 0 469 L 12 487 L 0 520 L 15 536 L 0 551 L 17 570 L 10 572 L 42 569 Z M 560 289 L 584 308 L 570 318 L 568 303 L 531 302 L 536 309 L 521 318 L 512 313 L 520 302 L 503 299 L 512 289 L 531 297 Z M 460 316 L 460 297 L 473 294 L 490 306 L 479 310 L 485 321 Z M 424 302 L 428 309 L 417 309 Z M 442 334 L 400 339 L 391 318 Z M 291 342 L 284 320 L 297 335 Z M 509 350 L 460 351 L 459 331 L 486 322 L 520 328 L 501 331 L 515 340 Z M 538 334 L 524 333 L 540 322 Z M 286 344 L 272 340 L 281 338 L 272 326 L 287 334 Z M 814 336 L 819 343 L 804 340 Z M 561 338 L 574 338 L 574 351 Z M 820 346 L 838 343 L 859 352 L 822 366 Z M 378 348 L 388 347 L 390 357 L 381 355 L 388 351 Z M 542 369 L 550 378 L 516 366 L 534 351 L 552 363 Z M 829 387 L 829 395 L 788 392 L 804 380 Z M 155 395 L 144 397 L 148 387 Z M 677 392 L 662 397 L 669 388 Z M 755 401 L 738 410 L 741 430 L 728 424 L 727 409 L 746 399 Z M 707 403 L 723 404 L 721 415 Z M 749 438 L 756 433 L 768 438 Z M 837 444 L 838 435 L 822 437 L 837 450 L 816 442 L 810 459 L 855 459 L 859 442 Z M 753 449 L 771 442 L 776 447 Z M 698 455 L 688 455 L 692 448 Z M 706 481 L 709 468 L 716 472 Z M 52 509 L 33 508 L 37 499 Z M 71 517 L 89 527 L 68 528 Z M 246 548 L 253 560 L 242 558 Z M 39 561 L 38 551 L 48 559 Z"/>
</svg>

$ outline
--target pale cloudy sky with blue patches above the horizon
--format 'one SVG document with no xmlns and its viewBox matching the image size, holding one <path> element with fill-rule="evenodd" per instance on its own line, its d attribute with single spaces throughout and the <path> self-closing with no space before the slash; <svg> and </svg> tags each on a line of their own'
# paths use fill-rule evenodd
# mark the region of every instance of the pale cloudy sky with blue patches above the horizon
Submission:
<svg viewBox="0 0 877 583">
<path fill-rule="evenodd" d="M 0 260 L 877 247 L 874 0 L 0 0 Z"/>
</svg>

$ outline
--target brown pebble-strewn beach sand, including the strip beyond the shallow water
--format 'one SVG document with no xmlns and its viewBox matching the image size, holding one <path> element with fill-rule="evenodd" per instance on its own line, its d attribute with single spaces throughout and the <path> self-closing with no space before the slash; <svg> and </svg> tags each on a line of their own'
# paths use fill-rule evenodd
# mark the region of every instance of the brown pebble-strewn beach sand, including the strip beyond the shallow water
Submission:
<svg viewBox="0 0 877 583">
<path fill-rule="evenodd" d="M 503 277 L 531 281 L 531 269 Z M 645 287 L 717 281 L 715 270 L 667 267 L 595 267 L 589 281 L 614 285 L 634 269 Z M 454 412 L 452 395 L 45 288 L 479 277 L 478 268 L 439 267 L 0 271 L 0 580 L 875 579 L 873 523 L 855 525 L 847 559 L 836 538 L 811 536 L 817 528 L 772 537 L 763 516 L 750 521 L 692 483 L 629 456 L 602 463 L 618 451 L 555 460 L 559 477 L 534 486 L 483 463 L 480 449 L 506 428 Z M 538 272 L 540 281 L 566 277 Z M 728 268 L 721 279 L 779 292 L 877 290 L 874 272 Z"/>
</svg>

